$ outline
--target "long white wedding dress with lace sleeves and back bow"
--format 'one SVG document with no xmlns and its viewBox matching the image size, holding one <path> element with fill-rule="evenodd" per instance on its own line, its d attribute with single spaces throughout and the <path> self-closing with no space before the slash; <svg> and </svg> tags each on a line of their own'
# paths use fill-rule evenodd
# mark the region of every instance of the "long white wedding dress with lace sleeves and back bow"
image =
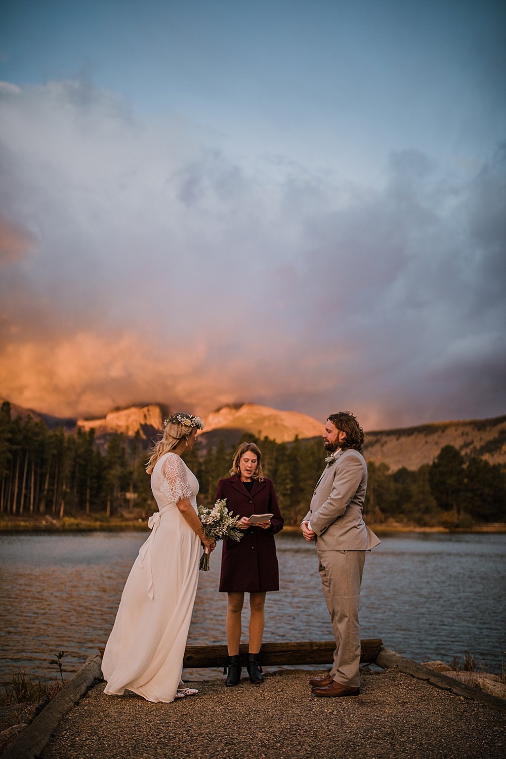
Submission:
<svg viewBox="0 0 506 759">
<path fill-rule="evenodd" d="M 140 547 L 121 596 L 102 658 L 104 693 L 125 689 L 148 701 L 174 701 L 199 576 L 200 538 L 176 503 L 196 509 L 199 483 L 182 458 L 167 453 L 151 474 L 159 511 Z M 181 686 L 184 687 L 184 686 Z"/>
</svg>

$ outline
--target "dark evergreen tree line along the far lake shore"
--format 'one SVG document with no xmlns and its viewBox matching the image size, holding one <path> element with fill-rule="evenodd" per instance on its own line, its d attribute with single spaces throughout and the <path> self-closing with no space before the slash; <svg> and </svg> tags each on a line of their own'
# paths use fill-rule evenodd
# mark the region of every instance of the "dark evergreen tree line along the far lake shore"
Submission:
<svg viewBox="0 0 506 759">
<path fill-rule="evenodd" d="M 247 434 L 262 450 L 266 477 L 275 483 L 287 524 L 306 514 L 322 473 L 325 451 L 320 439 L 278 443 Z M 242 442 L 242 441 L 241 441 Z M 223 439 L 199 452 L 198 439 L 185 461 L 200 482 L 199 502 L 214 501 L 218 480 L 228 477 L 236 446 Z M 64 433 L 40 421 L 11 416 L 0 408 L 0 512 L 5 515 L 95 515 L 108 518 L 154 507 L 145 471 L 146 450 L 140 433 L 113 434 L 105 450 L 94 430 Z M 423 527 L 470 528 L 506 521 L 506 474 L 482 458 L 464 458 L 453 446 L 442 448 L 431 465 L 391 472 L 369 461 L 364 518 L 369 523 L 404 521 Z"/>
</svg>

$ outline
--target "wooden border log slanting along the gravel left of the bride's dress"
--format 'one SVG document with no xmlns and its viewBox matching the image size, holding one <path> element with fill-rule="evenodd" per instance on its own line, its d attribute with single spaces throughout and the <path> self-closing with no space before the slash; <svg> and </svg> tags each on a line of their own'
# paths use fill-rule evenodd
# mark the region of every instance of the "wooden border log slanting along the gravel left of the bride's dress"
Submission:
<svg viewBox="0 0 506 759">
<path fill-rule="evenodd" d="M 79 672 L 61 688 L 55 698 L 49 701 L 30 725 L 21 730 L 11 743 L 2 759 L 34 759 L 49 743 L 52 732 L 61 722 L 61 717 L 77 704 L 80 697 L 102 678 L 102 657 L 98 654 L 88 657 Z"/>
</svg>

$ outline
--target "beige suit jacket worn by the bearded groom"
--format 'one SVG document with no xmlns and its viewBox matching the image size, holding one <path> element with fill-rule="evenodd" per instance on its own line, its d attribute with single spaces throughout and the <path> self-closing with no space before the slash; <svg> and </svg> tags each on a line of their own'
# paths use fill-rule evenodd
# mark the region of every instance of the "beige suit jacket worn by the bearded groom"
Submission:
<svg viewBox="0 0 506 759">
<path fill-rule="evenodd" d="M 338 453 L 325 467 L 302 520 L 311 521 L 319 551 L 366 551 L 381 542 L 362 518 L 366 490 L 367 465 L 358 451 Z"/>
</svg>

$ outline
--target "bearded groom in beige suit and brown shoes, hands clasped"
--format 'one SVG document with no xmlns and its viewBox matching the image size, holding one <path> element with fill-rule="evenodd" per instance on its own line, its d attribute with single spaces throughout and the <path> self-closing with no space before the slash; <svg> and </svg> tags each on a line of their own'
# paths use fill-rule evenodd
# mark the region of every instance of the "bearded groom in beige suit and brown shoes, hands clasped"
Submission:
<svg viewBox="0 0 506 759">
<path fill-rule="evenodd" d="M 326 467 L 300 528 L 314 540 L 336 649 L 327 676 L 310 680 L 316 696 L 360 694 L 358 606 L 366 551 L 380 542 L 364 524 L 367 465 L 360 454 L 363 430 L 354 414 L 331 414 L 323 433 Z"/>
</svg>

